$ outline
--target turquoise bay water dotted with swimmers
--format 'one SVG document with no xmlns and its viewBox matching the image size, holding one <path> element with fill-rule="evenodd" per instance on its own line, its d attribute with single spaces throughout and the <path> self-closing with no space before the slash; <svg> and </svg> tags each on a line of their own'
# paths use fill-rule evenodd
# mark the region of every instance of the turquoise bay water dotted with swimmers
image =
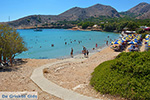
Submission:
<svg viewBox="0 0 150 100">
<path fill-rule="evenodd" d="M 83 46 L 93 52 L 92 48 L 95 48 L 96 43 L 99 48 L 102 48 L 106 46 L 107 40 L 119 38 L 119 34 L 116 33 L 65 29 L 43 29 L 42 32 L 25 29 L 17 32 L 26 42 L 28 51 L 19 54 L 16 58 L 32 59 L 69 57 L 71 48 L 74 49 L 74 54 L 80 54 Z M 51 44 L 54 44 L 54 47 Z"/>
</svg>

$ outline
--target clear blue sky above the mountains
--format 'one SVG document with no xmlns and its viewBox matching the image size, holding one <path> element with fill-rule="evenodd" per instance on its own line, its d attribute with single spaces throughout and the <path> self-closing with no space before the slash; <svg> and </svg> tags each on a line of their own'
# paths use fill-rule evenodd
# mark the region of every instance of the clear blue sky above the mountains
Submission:
<svg viewBox="0 0 150 100">
<path fill-rule="evenodd" d="M 0 22 L 16 20 L 28 15 L 58 15 L 72 7 L 89 7 L 100 3 L 117 11 L 126 11 L 150 0 L 0 0 Z"/>
</svg>

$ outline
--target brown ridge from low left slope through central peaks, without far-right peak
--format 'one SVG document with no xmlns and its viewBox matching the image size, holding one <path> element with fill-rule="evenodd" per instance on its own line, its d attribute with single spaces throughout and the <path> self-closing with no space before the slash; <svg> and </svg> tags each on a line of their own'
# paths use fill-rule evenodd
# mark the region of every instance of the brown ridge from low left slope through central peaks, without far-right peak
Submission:
<svg viewBox="0 0 150 100">
<path fill-rule="evenodd" d="M 35 25 L 43 25 L 57 21 L 73 21 L 78 19 L 86 19 L 89 17 L 110 16 L 120 17 L 119 13 L 111 6 L 96 4 L 88 8 L 71 8 L 59 15 L 31 15 L 15 21 L 8 22 L 14 27 L 32 27 Z"/>
</svg>

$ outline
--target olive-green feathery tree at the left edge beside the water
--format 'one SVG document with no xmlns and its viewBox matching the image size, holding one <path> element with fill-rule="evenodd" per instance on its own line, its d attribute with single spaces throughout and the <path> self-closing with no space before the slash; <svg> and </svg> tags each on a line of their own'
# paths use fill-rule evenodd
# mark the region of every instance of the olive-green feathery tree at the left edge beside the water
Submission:
<svg viewBox="0 0 150 100">
<path fill-rule="evenodd" d="M 10 60 L 12 65 L 12 59 L 23 51 L 27 48 L 19 33 L 8 25 L 0 25 L 0 61 Z"/>
</svg>

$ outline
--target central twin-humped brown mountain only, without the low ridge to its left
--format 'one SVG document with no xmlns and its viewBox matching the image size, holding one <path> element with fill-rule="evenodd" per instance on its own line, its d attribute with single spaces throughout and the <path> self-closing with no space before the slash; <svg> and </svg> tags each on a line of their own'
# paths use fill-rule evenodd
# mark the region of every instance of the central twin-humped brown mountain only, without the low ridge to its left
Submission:
<svg viewBox="0 0 150 100">
<path fill-rule="evenodd" d="M 119 13 L 111 6 L 105 6 L 101 4 L 96 4 L 88 8 L 74 7 L 67 10 L 66 12 L 58 15 L 60 17 L 65 17 L 68 20 L 85 19 L 89 17 L 99 17 L 99 16 L 110 16 L 110 17 L 120 17 Z"/>
</svg>

